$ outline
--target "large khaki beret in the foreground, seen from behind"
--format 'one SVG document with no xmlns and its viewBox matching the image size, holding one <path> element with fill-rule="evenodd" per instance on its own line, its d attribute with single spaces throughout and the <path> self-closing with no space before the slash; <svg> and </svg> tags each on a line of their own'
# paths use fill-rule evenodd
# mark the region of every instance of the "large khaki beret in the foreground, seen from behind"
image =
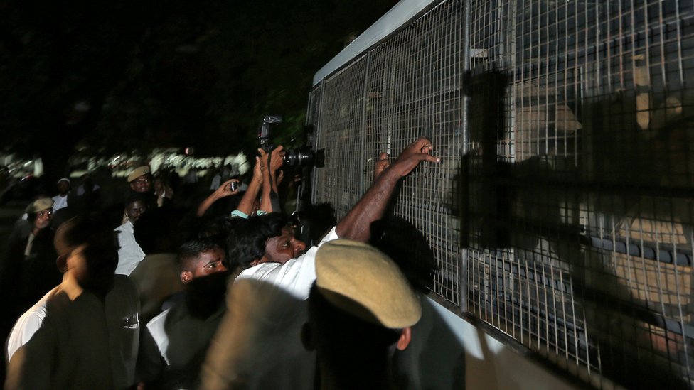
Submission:
<svg viewBox="0 0 694 390">
<path fill-rule="evenodd" d="M 420 301 L 393 260 L 361 242 L 337 239 L 316 254 L 316 286 L 337 308 L 390 329 L 415 325 Z"/>
</svg>

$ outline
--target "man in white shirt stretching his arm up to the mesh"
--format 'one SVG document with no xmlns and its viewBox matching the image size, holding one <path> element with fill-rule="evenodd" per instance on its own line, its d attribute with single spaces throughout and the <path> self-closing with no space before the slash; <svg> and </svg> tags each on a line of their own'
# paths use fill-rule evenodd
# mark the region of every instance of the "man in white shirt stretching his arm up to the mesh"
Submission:
<svg viewBox="0 0 694 390">
<path fill-rule="evenodd" d="M 367 242 L 370 238 L 370 226 L 372 222 L 383 217 L 388 201 L 400 178 L 412 172 L 420 162 L 429 161 L 438 163 L 439 158 L 431 156 L 432 144 L 429 140 L 420 138 L 405 148 L 400 156 L 392 163 L 388 163 L 388 155 L 381 153 L 375 166 L 375 178 L 372 185 L 352 207 L 348 214 L 341 220 L 336 227 L 333 227 L 329 234 L 324 237 L 321 243 L 309 249 L 306 254 L 298 256 L 305 249 L 303 242 L 298 242 L 293 238 L 286 226 L 269 223 L 272 216 L 262 216 L 250 218 L 245 225 L 245 231 L 249 232 L 257 229 L 264 232 L 258 237 L 252 234 L 230 234 L 228 239 L 229 259 L 236 260 L 246 269 L 242 271 L 237 281 L 242 279 L 252 279 L 265 282 L 265 286 L 274 286 L 275 293 L 265 293 L 265 297 L 274 296 L 279 300 L 287 300 L 286 305 L 296 305 L 296 309 L 287 313 L 303 312 L 305 310 L 305 300 L 309 296 L 312 284 L 316 280 L 316 252 L 322 244 L 333 239 L 344 238 L 357 242 Z M 271 164 L 265 164 L 265 169 Z M 261 167 L 263 168 L 263 167 Z M 271 175 L 276 175 L 272 173 Z M 263 180 L 272 183 L 274 180 Z M 265 220 L 264 219 L 268 219 Z M 257 226 L 260 224 L 260 227 Z M 237 232 L 243 232 L 238 229 Z M 250 236 L 250 237 L 248 237 Z M 259 247 L 263 247 L 259 250 Z M 250 267 L 249 267 L 250 266 Z M 251 288 L 252 289 L 252 288 Z M 263 290 L 264 288 L 260 288 Z M 260 324 L 267 322 L 267 318 L 276 315 L 277 306 L 270 303 L 265 308 L 263 300 L 258 299 L 255 304 L 252 293 L 247 298 L 235 299 L 233 289 L 228 294 L 228 306 L 230 309 L 225 314 L 225 318 L 220 325 L 215 340 L 210 344 L 208 356 L 203 364 L 201 377 L 204 389 L 226 389 L 230 385 L 242 384 L 262 389 L 267 386 L 286 387 L 291 384 L 291 388 L 312 389 L 311 377 L 306 370 L 311 369 L 311 359 L 302 357 L 303 362 L 297 362 L 299 358 L 274 359 L 274 349 L 279 348 L 283 356 L 291 356 L 287 353 L 287 348 L 282 349 L 282 343 L 257 342 L 258 337 L 244 337 L 240 334 L 245 331 L 253 331 L 253 325 L 241 326 L 249 323 L 250 320 L 257 320 Z M 237 308 L 237 313 L 234 309 Z M 265 311 L 262 311 L 265 310 Z M 243 313 L 242 321 L 239 321 L 240 313 Z M 284 337 L 287 340 L 298 340 L 301 318 L 287 321 L 287 328 Z M 235 326 L 239 325 L 239 326 Z M 299 325 L 299 327 L 297 327 Z M 278 331 L 270 332 L 267 337 L 273 337 Z M 243 340 L 247 340 L 242 342 Z M 272 352 L 267 352 L 269 347 L 273 347 Z M 298 351 L 294 356 L 299 356 Z M 239 367 L 240 362 L 253 362 L 250 366 Z M 269 361 L 272 359 L 272 362 Z M 308 380 L 307 380 L 308 379 Z M 260 380 L 260 381 L 259 381 Z M 272 382 L 272 383 L 269 383 Z M 298 387 L 297 387 L 298 386 Z"/>
</svg>

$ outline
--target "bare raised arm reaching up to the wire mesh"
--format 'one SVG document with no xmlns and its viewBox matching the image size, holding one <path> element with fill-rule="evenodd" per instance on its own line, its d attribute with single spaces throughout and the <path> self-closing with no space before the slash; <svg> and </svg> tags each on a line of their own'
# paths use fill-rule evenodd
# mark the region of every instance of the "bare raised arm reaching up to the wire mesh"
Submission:
<svg viewBox="0 0 694 390">
<path fill-rule="evenodd" d="M 429 154 L 432 149 L 432 143 L 428 139 L 417 139 L 410 146 L 407 146 L 390 166 L 385 166 L 380 173 L 377 173 L 375 180 L 364 196 L 337 224 L 337 235 L 340 238 L 367 242 L 371 236 L 371 223 L 383 217 L 390 195 L 393 195 L 395 185 L 400 178 L 409 175 L 421 161 L 432 163 L 440 161 L 438 157 Z M 383 161 L 383 158 L 380 158 L 379 161 Z M 380 164 L 381 166 L 385 165 Z"/>
</svg>

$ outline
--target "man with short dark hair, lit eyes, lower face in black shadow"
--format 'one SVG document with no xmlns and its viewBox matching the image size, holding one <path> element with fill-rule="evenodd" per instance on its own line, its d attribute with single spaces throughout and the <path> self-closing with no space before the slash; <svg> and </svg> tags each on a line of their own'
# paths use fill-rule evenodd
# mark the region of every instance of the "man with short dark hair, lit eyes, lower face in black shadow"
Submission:
<svg viewBox="0 0 694 390">
<path fill-rule="evenodd" d="M 220 244 L 213 239 L 186 242 L 178 250 L 178 270 L 186 291 L 147 323 L 140 347 L 140 376 L 157 389 L 197 388 L 200 366 L 225 310 L 229 272 Z"/>
</svg>

